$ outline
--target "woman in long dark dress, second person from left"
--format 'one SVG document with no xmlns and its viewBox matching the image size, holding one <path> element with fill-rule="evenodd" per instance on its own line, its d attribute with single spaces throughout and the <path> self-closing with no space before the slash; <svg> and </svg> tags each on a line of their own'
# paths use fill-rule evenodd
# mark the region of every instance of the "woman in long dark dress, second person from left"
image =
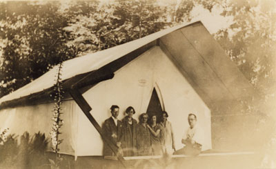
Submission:
<svg viewBox="0 0 276 169">
<path fill-rule="evenodd" d="M 129 106 L 126 109 L 126 117 L 123 121 L 123 151 L 124 156 L 136 156 L 137 155 L 137 121 L 132 118 L 135 114 L 134 108 Z"/>
</svg>

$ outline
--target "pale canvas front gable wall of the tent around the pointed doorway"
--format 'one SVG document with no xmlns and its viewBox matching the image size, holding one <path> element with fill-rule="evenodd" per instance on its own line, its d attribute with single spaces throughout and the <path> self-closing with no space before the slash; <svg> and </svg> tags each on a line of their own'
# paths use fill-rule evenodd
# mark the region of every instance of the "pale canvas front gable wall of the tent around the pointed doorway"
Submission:
<svg viewBox="0 0 276 169">
<path fill-rule="evenodd" d="M 83 94 L 92 107 L 90 112 L 100 123 L 110 117 L 110 106 L 120 107 L 119 119 L 124 117 L 128 106 L 135 108 L 135 119 L 146 112 L 153 88 L 159 88 L 168 120 L 175 130 L 177 149 L 182 148 L 181 137 L 188 127 L 188 113 L 195 112 L 199 125 L 206 133 L 206 148 L 211 148 L 210 110 L 183 77 L 159 46 L 141 54 L 124 68 L 115 72 L 115 77 L 102 81 Z M 103 141 L 99 133 L 79 110 L 79 135 L 77 155 L 101 155 Z M 85 138 L 85 139 L 84 139 Z"/>
</svg>

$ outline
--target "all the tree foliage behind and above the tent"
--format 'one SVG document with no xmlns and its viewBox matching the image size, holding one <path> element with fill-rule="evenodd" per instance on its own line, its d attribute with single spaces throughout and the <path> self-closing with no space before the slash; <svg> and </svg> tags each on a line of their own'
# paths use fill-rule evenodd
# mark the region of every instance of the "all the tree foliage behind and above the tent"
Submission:
<svg viewBox="0 0 276 169">
<path fill-rule="evenodd" d="M 193 19 L 195 6 L 233 17 L 214 34 L 245 77 L 264 93 L 275 79 L 275 2 L 264 0 L 116 0 L 0 3 L 0 97 L 57 63 Z M 1 43 L 2 42 L 2 43 Z"/>
</svg>

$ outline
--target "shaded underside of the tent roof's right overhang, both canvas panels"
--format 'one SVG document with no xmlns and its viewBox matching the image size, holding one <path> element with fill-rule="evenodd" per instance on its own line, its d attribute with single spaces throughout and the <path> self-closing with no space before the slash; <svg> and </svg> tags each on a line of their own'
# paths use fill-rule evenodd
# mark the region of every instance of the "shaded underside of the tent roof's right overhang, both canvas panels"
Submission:
<svg viewBox="0 0 276 169">
<path fill-rule="evenodd" d="M 215 112 L 258 97 L 248 79 L 202 23 L 164 35 L 159 39 L 159 46 Z"/>
</svg>

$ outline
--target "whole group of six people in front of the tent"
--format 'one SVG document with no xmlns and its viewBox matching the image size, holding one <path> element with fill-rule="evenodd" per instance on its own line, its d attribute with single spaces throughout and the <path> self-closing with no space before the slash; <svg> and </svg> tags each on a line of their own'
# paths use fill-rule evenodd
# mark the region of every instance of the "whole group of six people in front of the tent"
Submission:
<svg viewBox="0 0 276 169">
<path fill-rule="evenodd" d="M 201 140 L 197 139 L 194 128 L 197 117 L 194 114 L 188 115 L 190 130 L 182 138 L 186 146 L 175 150 L 175 138 L 170 121 L 167 120 L 168 113 L 162 112 L 161 122 L 157 123 L 157 115 L 148 117 L 142 113 L 139 116 L 139 123 L 132 116 L 135 109 L 129 106 L 126 109 L 126 117 L 121 121 L 117 119 L 119 106 L 113 105 L 110 108 L 111 117 L 103 123 L 102 132 L 106 139 L 109 139 L 117 146 L 117 152 L 111 150 L 106 142 L 103 143 L 104 156 L 148 156 L 172 154 L 197 154 L 201 150 Z M 194 139 L 195 137 L 195 139 Z M 194 150 L 195 149 L 195 150 Z"/>
</svg>

